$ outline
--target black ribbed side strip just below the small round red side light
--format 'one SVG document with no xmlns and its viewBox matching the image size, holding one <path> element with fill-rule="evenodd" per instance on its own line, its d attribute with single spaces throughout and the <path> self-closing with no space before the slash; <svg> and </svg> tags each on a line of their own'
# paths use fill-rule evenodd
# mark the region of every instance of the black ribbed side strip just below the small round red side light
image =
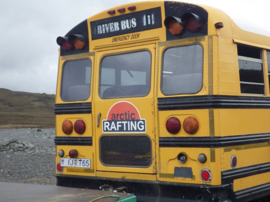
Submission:
<svg viewBox="0 0 270 202">
<path fill-rule="evenodd" d="M 225 184 L 228 182 L 233 182 L 234 179 L 244 178 L 266 172 L 270 172 L 270 162 L 221 171 L 221 183 Z"/>
</svg>

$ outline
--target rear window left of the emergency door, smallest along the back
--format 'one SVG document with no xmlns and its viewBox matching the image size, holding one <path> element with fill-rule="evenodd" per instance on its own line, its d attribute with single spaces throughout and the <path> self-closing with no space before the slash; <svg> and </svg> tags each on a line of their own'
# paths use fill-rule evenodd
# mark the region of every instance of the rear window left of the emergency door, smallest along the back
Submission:
<svg viewBox="0 0 270 202">
<path fill-rule="evenodd" d="M 82 101 L 90 96 L 91 60 L 70 60 L 64 63 L 61 85 L 63 101 Z"/>
</svg>

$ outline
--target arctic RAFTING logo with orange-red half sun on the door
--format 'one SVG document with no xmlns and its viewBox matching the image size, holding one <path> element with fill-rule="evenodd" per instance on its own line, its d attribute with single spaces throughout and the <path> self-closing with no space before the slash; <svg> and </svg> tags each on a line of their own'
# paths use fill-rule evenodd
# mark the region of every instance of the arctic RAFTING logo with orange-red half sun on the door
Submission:
<svg viewBox="0 0 270 202">
<path fill-rule="evenodd" d="M 111 132 L 146 132 L 146 120 L 141 119 L 138 109 L 130 102 L 120 101 L 109 109 L 107 120 L 102 121 L 102 131 Z"/>
</svg>

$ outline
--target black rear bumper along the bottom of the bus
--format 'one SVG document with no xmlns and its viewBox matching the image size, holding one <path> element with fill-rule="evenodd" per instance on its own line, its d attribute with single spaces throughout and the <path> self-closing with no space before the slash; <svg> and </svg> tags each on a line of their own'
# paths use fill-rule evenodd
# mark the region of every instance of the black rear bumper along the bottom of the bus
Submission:
<svg viewBox="0 0 270 202">
<path fill-rule="evenodd" d="M 184 184 L 174 182 L 156 182 L 115 178 L 98 178 L 74 175 L 56 175 L 57 186 L 68 186 L 82 189 L 99 189 L 110 185 L 113 189 L 127 187 L 137 201 L 234 201 L 231 183 L 219 186 Z"/>
</svg>

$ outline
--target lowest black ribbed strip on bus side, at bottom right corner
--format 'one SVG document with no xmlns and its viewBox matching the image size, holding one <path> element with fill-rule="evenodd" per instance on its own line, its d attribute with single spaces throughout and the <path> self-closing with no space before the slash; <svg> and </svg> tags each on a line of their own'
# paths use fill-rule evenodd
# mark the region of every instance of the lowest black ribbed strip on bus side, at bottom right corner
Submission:
<svg viewBox="0 0 270 202">
<path fill-rule="evenodd" d="M 242 189 L 235 192 L 235 199 L 239 201 L 253 200 L 270 195 L 270 182 Z"/>
</svg>

